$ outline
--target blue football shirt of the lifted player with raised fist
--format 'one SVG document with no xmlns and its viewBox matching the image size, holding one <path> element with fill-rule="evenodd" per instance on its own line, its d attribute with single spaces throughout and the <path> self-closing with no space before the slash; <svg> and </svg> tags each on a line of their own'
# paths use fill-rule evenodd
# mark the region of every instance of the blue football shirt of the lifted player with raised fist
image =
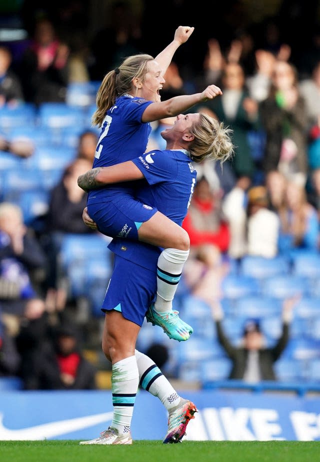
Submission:
<svg viewBox="0 0 320 462">
<path fill-rule="evenodd" d="M 116 163 L 132 160 L 145 152 L 150 123 L 141 122 L 145 108 L 152 101 L 133 97 L 119 96 L 115 104 L 107 110 L 97 142 L 93 168 L 107 167 Z M 88 192 L 87 203 L 99 203 L 112 200 L 121 194 L 132 195 L 139 182 L 127 181 L 92 189 Z"/>
</svg>

